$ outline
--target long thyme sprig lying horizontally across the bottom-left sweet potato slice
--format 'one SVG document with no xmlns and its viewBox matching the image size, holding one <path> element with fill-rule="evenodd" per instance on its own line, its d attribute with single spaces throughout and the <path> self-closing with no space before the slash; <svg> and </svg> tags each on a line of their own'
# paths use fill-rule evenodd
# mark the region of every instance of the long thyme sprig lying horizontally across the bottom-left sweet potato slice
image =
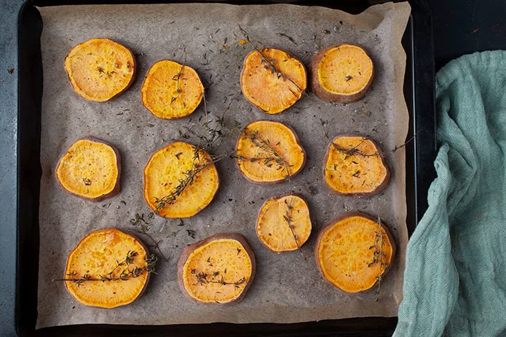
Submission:
<svg viewBox="0 0 506 337">
<path fill-rule="evenodd" d="M 125 259 L 123 261 L 119 262 L 116 261 L 116 266 L 112 271 L 105 275 L 98 275 L 97 277 L 93 277 L 89 274 L 82 275 L 81 277 L 78 277 L 78 273 L 76 271 L 71 271 L 70 273 L 67 273 L 67 278 L 63 279 L 53 279 L 51 282 L 54 281 L 64 281 L 64 282 L 73 282 L 77 284 L 77 286 L 81 286 L 85 282 L 106 282 L 106 281 L 128 281 L 132 278 L 139 277 L 146 271 L 146 273 L 155 273 L 155 265 L 157 263 L 157 255 L 151 254 L 146 259 L 146 266 L 143 266 L 139 268 L 136 264 L 134 264 L 134 257 L 139 255 L 136 251 L 128 251 Z M 131 268 L 133 266 L 133 268 Z M 121 267 L 121 273 L 117 273 L 118 269 Z"/>
</svg>

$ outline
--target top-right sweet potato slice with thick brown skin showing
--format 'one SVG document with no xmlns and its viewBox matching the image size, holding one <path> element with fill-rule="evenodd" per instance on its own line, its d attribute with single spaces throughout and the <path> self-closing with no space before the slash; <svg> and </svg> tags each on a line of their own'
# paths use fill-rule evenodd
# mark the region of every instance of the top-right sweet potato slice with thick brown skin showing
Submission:
<svg viewBox="0 0 506 337">
<path fill-rule="evenodd" d="M 369 53 L 356 44 L 335 44 L 316 54 L 309 65 L 311 90 L 322 100 L 355 102 L 374 79 Z"/>
</svg>

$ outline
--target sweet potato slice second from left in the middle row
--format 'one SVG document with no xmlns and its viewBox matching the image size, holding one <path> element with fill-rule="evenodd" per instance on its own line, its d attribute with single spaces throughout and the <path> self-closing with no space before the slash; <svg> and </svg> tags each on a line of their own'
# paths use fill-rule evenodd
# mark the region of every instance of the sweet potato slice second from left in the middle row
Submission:
<svg viewBox="0 0 506 337">
<path fill-rule="evenodd" d="M 171 143 L 152 154 L 144 167 L 144 199 L 158 215 L 193 217 L 213 200 L 220 185 L 218 171 L 209 154 L 200 149 L 197 158 L 196 149 Z"/>
</svg>

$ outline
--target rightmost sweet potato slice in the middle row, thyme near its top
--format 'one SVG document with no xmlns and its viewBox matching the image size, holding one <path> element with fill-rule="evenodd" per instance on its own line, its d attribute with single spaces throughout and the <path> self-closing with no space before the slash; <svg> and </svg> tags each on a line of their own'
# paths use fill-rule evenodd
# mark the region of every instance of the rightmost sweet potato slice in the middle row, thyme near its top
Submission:
<svg viewBox="0 0 506 337">
<path fill-rule="evenodd" d="M 381 192 L 390 181 L 380 147 L 360 135 L 335 137 L 323 166 L 326 184 L 340 195 L 366 197 Z"/>
</svg>

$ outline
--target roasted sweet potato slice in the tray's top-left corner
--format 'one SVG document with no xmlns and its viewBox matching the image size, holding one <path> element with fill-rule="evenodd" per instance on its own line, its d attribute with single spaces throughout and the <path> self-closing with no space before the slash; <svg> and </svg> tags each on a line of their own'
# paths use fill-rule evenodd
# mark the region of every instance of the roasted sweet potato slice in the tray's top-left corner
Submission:
<svg viewBox="0 0 506 337">
<path fill-rule="evenodd" d="M 87 100 L 112 100 L 135 80 L 134 54 L 110 39 L 89 39 L 78 44 L 64 63 L 73 89 Z"/>
</svg>

